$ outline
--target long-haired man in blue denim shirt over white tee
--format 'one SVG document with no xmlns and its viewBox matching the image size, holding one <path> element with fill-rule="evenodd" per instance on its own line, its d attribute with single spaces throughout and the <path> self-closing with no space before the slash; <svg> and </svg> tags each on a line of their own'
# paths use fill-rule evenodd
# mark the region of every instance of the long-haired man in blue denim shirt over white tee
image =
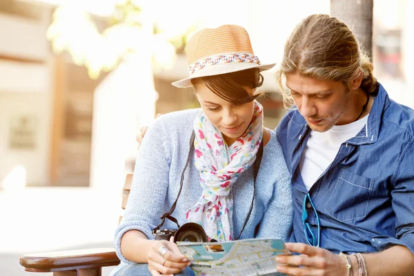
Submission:
<svg viewBox="0 0 414 276">
<path fill-rule="evenodd" d="M 307 17 L 286 42 L 277 80 L 295 106 L 276 131 L 293 190 L 286 246 L 297 254 L 277 257 L 293 265 L 279 272 L 414 275 L 414 110 L 372 71 L 335 17 Z"/>
</svg>

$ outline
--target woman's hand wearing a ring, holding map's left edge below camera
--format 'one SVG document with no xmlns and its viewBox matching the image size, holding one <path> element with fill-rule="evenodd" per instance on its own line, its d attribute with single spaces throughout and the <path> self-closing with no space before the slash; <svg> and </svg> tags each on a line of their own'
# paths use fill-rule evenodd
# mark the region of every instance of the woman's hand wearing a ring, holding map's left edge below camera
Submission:
<svg viewBox="0 0 414 276">
<path fill-rule="evenodd" d="M 170 242 L 157 241 L 152 244 L 148 251 L 148 270 L 150 270 L 152 276 L 180 273 L 184 268 L 190 266 L 191 263 L 188 262 L 186 256 L 181 254 L 177 244 L 172 242 L 173 240 L 174 238 L 171 237 Z M 169 249 L 164 257 L 159 254 L 161 246 Z"/>
</svg>

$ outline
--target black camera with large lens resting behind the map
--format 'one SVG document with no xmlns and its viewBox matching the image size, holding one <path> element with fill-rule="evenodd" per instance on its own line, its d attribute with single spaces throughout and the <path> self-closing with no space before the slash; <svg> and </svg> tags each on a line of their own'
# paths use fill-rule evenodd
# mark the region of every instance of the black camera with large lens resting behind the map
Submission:
<svg viewBox="0 0 414 276">
<path fill-rule="evenodd" d="M 208 242 L 204 229 L 194 222 L 183 224 L 177 230 L 159 229 L 155 231 L 154 235 L 156 240 L 165 239 L 169 241 L 170 237 L 174 237 L 174 242 Z"/>
</svg>

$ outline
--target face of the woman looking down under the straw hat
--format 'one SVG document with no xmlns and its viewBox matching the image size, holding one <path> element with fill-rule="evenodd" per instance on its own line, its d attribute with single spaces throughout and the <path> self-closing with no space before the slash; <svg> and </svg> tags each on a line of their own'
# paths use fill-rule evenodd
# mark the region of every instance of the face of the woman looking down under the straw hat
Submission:
<svg viewBox="0 0 414 276">
<path fill-rule="evenodd" d="M 255 111 L 255 101 L 235 105 L 215 95 L 203 81 L 195 81 L 193 87 L 204 113 L 213 126 L 221 131 L 226 144 L 230 146 L 250 125 Z M 249 95 L 255 92 L 253 88 L 244 88 Z"/>
</svg>

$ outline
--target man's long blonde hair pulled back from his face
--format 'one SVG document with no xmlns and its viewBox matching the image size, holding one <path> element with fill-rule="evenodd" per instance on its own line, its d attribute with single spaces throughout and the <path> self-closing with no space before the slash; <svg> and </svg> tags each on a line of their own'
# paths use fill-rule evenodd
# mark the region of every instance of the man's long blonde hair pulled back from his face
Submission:
<svg viewBox="0 0 414 276">
<path fill-rule="evenodd" d="M 373 64 L 353 32 L 344 22 L 328 14 L 306 17 L 285 43 L 282 62 L 276 72 L 285 104 L 293 103 L 282 84 L 286 73 L 343 82 L 362 74 L 362 90 L 372 93 L 377 88 Z"/>
</svg>

